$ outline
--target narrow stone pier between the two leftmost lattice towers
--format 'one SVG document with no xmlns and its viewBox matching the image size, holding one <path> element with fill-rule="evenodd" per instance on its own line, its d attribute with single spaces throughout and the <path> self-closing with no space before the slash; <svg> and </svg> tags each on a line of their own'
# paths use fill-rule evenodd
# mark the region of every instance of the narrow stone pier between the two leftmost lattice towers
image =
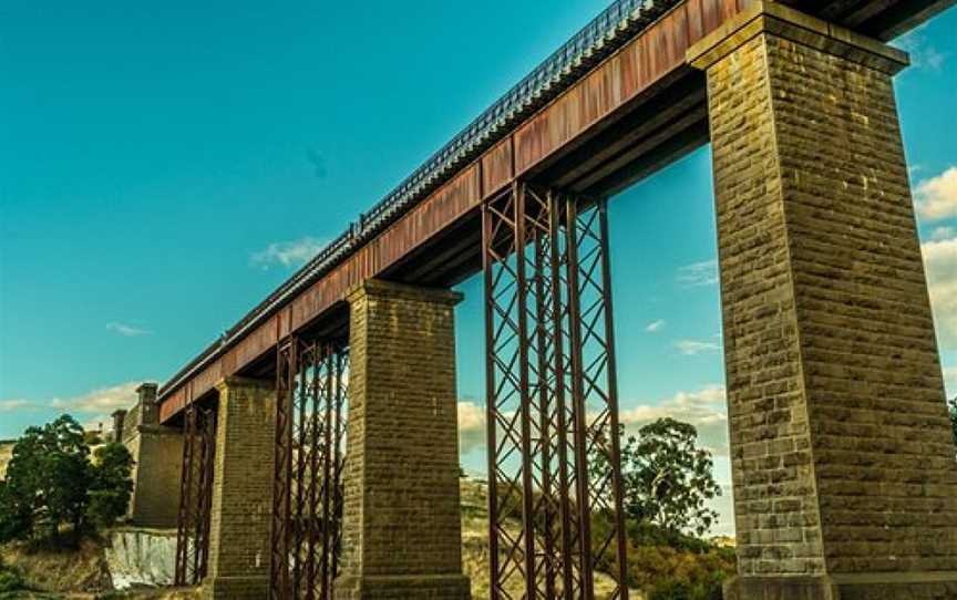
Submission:
<svg viewBox="0 0 957 600">
<path fill-rule="evenodd" d="M 230 376 L 217 385 L 206 598 L 266 598 L 272 510 L 276 390 Z"/>
</svg>

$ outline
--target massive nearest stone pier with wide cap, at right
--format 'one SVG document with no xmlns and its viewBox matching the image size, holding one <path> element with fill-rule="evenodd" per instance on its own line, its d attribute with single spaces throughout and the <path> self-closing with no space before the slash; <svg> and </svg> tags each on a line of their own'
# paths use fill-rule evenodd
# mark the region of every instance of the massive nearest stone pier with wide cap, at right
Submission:
<svg viewBox="0 0 957 600">
<path fill-rule="evenodd" d="M 892 75 L 773 2 L 706 69 L 739 572 L 726 598 L 957 598 L 957 461 Z"/>
</svg>

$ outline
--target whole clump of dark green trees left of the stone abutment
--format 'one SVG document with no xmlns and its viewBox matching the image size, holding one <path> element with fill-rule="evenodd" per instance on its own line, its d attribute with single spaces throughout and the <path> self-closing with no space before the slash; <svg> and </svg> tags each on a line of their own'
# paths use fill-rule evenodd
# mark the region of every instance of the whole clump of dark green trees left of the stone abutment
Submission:
<svg viewBox="0 0 957 600">
<path fill-rule="evenodd" d="M 75 546 L 125 513 L 132 467 L 121 444 L 100 447 L 91 463 L 83 428 L 69 415 L 28 428 L 0 483 L 0 541 Z"/>
</svg>

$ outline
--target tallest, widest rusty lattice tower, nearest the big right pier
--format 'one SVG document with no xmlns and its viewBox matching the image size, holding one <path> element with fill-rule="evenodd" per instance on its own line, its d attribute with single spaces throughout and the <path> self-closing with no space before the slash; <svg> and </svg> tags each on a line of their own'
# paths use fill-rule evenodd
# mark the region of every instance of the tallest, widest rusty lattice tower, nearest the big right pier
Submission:
<svg viewBox="0 0 957 600">
<path fill-rule="evenodd" d="M 516 578 L 518 598 L 590 600 L 596 566 L 628 596 L 608 227 L 588 206 L 526 183 L 483 205 L 493 600 Z"/>
</svg>

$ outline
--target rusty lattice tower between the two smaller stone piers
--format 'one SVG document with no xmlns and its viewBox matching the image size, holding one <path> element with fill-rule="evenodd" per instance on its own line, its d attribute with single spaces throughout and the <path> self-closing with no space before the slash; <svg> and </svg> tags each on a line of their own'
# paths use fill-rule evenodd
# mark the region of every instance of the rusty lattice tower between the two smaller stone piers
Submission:
<svg viewBox="0 0 957 600">
<path fill-rule="evenodd" d="M 289 338 L 277 356 L 269 597 L 328 600 L 341 549 L 349 354 Z"/>
</svg>

